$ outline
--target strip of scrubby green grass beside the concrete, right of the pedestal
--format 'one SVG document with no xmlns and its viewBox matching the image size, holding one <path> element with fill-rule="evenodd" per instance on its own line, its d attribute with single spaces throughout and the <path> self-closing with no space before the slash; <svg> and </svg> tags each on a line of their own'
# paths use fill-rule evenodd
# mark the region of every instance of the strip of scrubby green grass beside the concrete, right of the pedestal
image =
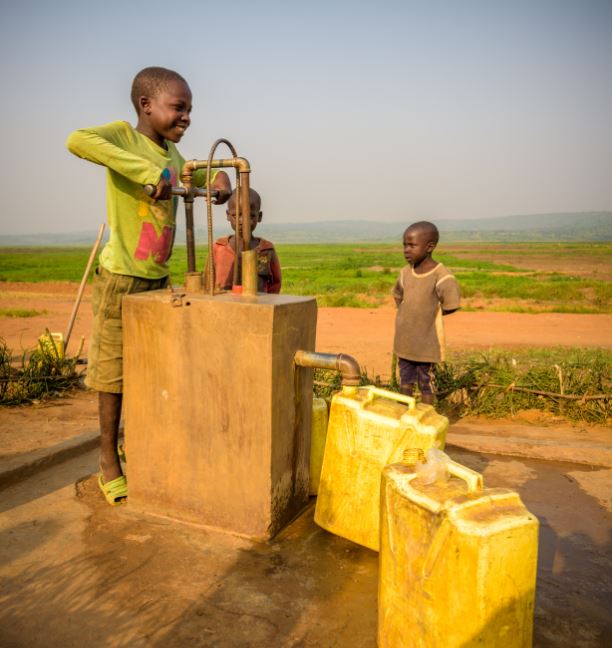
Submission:
<svg viewBox="0 0 612 648">
<path fill-rule="evenodd" d="M 390 381 L 361 376 L 361 384 L 398 391 L 397 366 Z M 612 416 L 612 354 L 604 349 L 547 348 L 451 354 L 436 365 L 436 409 L 450 418 L 491 418 L 539 410 L 571 421 L 606 425 Z M 340 389 L 333 371 L 315 371 L 315 393 L 329 399 Z M 604 395 L 608 395 L 604 397 Z"/>
</svg>

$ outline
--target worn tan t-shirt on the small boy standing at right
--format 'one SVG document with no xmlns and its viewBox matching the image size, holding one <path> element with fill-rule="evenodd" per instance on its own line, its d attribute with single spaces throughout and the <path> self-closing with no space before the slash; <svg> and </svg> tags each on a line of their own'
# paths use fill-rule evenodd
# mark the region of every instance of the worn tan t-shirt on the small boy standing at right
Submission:
<svg viewBox="0 0 612 648">
<path fill-rule="evenodd" d="M 393 287 L 398 304 L 393 352 L 417 362 L 444 360 L 442 311 L 460 307 L 459 284 L 441 263 L 425 274 L 406 266 Z"/>
</svg>

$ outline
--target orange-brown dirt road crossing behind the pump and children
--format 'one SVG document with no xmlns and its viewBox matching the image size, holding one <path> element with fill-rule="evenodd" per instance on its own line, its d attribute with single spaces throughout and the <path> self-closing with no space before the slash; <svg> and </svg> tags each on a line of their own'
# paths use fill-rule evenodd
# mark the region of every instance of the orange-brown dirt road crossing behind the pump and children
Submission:
<svg viewBox="0 0 612 648">
<path fill-rule="evenodd" d="M 65 332 L 77 285 L 69 282 L 0 284 L 0 306 L 41 311 L 36 317 L 0 317 L 0 336 L 15 354 L 36 344 L 45 328 Z M 90 288 L 78 313 L 69 353 L 91 329 Z M 317 351 L 348 353 L 372 376 L 388 376 L 395 310 L 389 307 L 320 308 Z M 528 346 L 612 348 L 612 315 L 458 312 L 445 318 L 449 351 Z"/>
</svg>

